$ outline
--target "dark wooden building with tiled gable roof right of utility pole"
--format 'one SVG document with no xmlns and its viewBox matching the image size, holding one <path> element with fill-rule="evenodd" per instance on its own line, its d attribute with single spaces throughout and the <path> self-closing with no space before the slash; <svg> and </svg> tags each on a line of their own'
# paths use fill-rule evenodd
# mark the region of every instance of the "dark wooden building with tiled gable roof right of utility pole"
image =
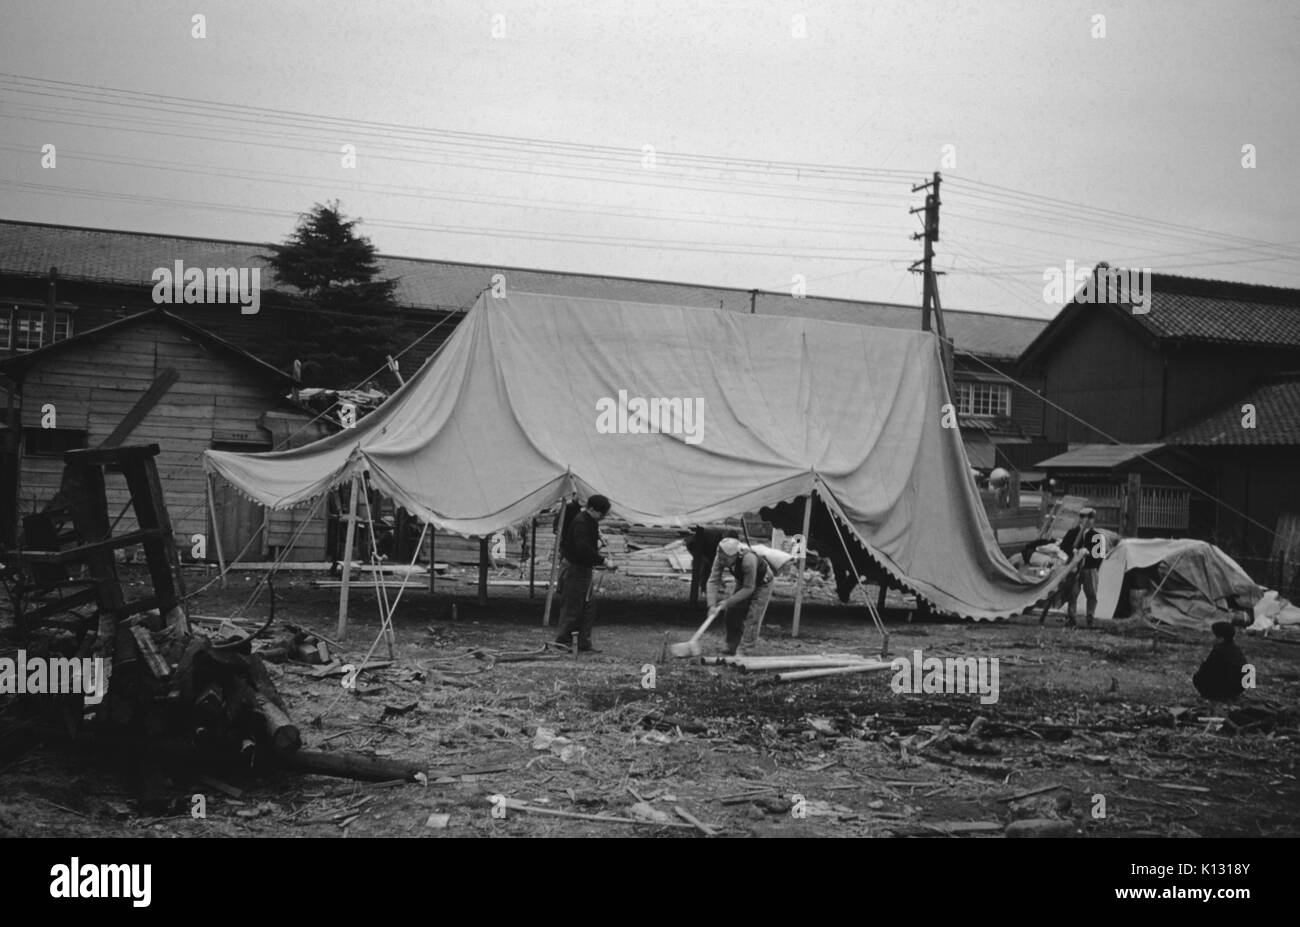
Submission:
<svg viewBox="0 0 1300 927">
<path fill-rule="evenodd" d="M 1147 312 L 1069 304 L 1020 358 L 1050 406 L 1043 462 L 1070 493 L 1128 512 L 1127 534 L 1212 540 L 1262 579 L 1297 511 L 1300 290 L 1154 273 Z M 1245 407 L 1269 410 L 1243 426 Z M 1060 408 L 1057 408 L 1060 407 Z M 1266 580 L 1265 580 L 1266 581 Z"/>
</svg>

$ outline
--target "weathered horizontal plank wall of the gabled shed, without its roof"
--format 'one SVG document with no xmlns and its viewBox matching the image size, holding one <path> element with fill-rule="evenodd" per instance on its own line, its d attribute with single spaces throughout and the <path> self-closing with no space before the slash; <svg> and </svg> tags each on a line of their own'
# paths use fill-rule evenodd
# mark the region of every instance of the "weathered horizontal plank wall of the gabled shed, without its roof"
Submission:
<svg viewBox="0 0 1300 927">
<path fill-rule="evenodd" d="M 157 443 L 159 473 L 182 556 L 188 558 L 191 536 L 208 532 L 203 451 L 212 446 L 213 432 L 269 433 L 259 426 L 261 416 L 280 404 L 280 384 L 228 354 L 217 354 L 187 333 L 164 322 L 143 322 L 94 343 L 77 345 L 32 368 L 25 381 L 22 424 L 40 426 L 40 408 L 53 403 L 58 428 L 88 432 L 87 442 L 104 441 L 153 378 L 168 367 L 181 374 L 126 439 L 126 443 Z M 302 423 L 309 416 L 303 415 Z M 62 462 L 25 456 L 20 512 L 38 511 L 58 489 Z M 121 478 L 109 480 L 109 517 L 126 506 L 129 494 Z M 220 514 L 218 514 L 220 515 Z M 265 543 L 282 545 L 300 524 L 304 511 L 280 512 L 270 519 Z M 133 530 L 127 512 L 117 532 Z M 235 551 L 225 551 L 233 556 Z M 265 556 L 261 543 L 244 555 Z M 216 559 L 208 542 L 208 559 Z M 303 532 L 292 560 L 325 559 L 325 519 L 316 517 Z"/>
</svg>

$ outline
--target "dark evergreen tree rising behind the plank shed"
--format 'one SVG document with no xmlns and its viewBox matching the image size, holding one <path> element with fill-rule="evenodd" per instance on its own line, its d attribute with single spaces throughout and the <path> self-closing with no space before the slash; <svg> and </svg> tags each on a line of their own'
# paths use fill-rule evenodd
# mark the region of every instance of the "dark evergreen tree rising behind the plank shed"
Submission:
<svg viewBox="0 0 1300 927">
<path fill-rule="evenodd" d="M 283 244 L 264 255 L 287 300 L 289 338 L 269 360 L 303 364 L 304 386 L 351 389 L 384 365 L 395 348 L 396 280 L 380 280 L 376 248 L 356 233 L 338 200 L 299 217 Z"/>
</svg>

